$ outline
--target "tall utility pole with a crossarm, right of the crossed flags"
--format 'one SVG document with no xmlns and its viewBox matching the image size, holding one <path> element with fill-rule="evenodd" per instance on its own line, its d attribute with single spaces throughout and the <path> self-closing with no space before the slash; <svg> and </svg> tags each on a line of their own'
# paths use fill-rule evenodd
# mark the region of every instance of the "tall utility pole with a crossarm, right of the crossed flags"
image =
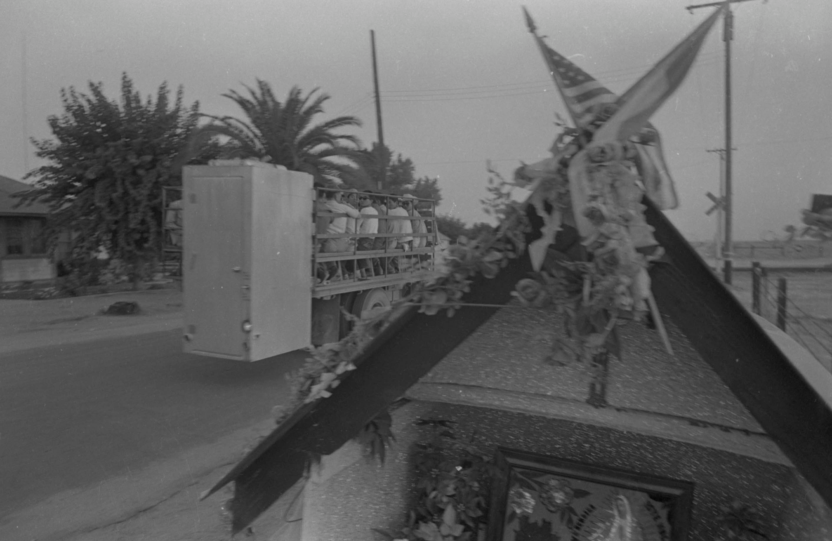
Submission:
<svg viewBox="0 0 832 541">
<path fill-rule="evenodd" d="M 724 2 L 711 2 L 706 4 L 698 4 L 696 6 L 687 6 L 689 12 L 699 7 L 718 7 L 727 4 L 725 25 L 722 29 L 722 41 L 726 44 L 726 145 L 723 151 L 725 152 L 725 243 L 722 247 L 722 254 L 724 256 L 723 280 L 730 285 L 733 271 L 733 255 L 734 255 L 734 241 L 731 236 L 733 225 L 733 185 L 732 172 L 733 162 L 731 160 L 731 98 L 730 98 L 730 42 L 734 39 L 734 14 L 730 11 L 730 4 L 739 2 L 750 2 L 751 0 L 724 0 Z M 763 0 L 765 2 L 765 0 Z"/>
</svg>

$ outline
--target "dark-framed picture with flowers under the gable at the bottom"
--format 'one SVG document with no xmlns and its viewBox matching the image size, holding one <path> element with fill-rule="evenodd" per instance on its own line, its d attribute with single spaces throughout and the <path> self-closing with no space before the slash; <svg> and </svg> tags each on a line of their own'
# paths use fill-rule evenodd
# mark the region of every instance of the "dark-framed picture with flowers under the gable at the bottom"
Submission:
<svg viewBox="0 0 832 541">
<path fill-rule="evenodd" d="M 488 541 L 684 541 L 694 484 L 498 449 Z"/>
</svg>

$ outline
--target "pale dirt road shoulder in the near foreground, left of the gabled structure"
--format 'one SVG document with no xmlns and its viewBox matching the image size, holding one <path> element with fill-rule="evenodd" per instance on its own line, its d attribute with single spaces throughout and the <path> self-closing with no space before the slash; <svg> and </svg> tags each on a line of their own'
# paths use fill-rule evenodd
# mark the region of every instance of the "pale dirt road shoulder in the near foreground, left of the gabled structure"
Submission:
<svg viewBox="0 0 832 541">
<path fill-rule="evenodd" d="M 0 539 L 168 539 L 163 533 L 170 539 L 228 539 L 221 506 L 230 494 L 220 491 L 205 501 L 199 501 L 199 495 L 240 460 L 242 450 L 274 426 L 271 419 L 260 421 L 141 471 L 55 494 L 2 519 Z M 92 514 L 91 509 L 97 512 Z M 166 526 L 165 520 L 179 525 Z M 183 528 L 192 531 L 186 534 Z M 159 534 L 148 538 L 150 531 Z"/>
</svg>

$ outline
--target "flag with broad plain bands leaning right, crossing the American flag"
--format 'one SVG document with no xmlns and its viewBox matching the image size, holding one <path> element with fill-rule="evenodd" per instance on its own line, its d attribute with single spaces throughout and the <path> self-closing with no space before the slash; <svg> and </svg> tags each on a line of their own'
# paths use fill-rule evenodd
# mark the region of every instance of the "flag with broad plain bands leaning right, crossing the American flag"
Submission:
<svg viewBox="0 0 832 541">
<path fill-rule="evenodd" d="M 723 4 L 711 13 L 696 30 L 631 86 L 618 102 L 615 114 L 595 132 L 592 142 L 623 141 L 636 135 L 656 109 L 681 85 L 705 42 L 708 31 L 725 9 L 726 4 Z"/>
</svg>

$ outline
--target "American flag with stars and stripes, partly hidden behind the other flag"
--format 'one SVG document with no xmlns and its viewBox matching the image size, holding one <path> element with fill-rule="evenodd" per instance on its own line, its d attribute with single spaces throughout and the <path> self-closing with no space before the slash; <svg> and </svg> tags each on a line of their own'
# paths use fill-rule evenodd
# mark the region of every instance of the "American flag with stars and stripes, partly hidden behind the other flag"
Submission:
<svg viewBox="0 0 832 541">
<path fill-rule="evenodd" d="M 612 93 L 572 61 L 548 47 L 543 38 L 537 36 L 537 27 L 532 16 L 525 7 L 522 10 L 526 16 L 528 30 L 534 35 L 537 47 L 540 48 L 543 59 L 549 67 L 563 103 L 567 106 L 569 115 L 572 116 L 572 122 L 578 128 L 585 128 L 592 122 L 596 117 L 596 106 L 619 103 L 622 98 Z M 647 122 L 639 136 L 634 139 L 639 151 L 636 166 L 644 181 L 647 196 L 659 209 L 676 209 L 679 206 L 679 199 L 676 196 L 673 179 L 667 170 L 658 130 Z"/>
</svg>

